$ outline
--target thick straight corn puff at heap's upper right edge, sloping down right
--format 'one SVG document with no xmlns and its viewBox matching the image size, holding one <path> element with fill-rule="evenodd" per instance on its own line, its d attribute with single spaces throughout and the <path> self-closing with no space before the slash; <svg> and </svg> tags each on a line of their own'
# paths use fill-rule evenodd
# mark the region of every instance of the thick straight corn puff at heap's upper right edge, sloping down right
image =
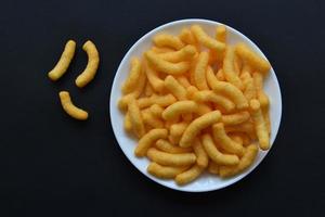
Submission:
<svg viewBox="0 0 325 217">
<path fill-rule="evenodd" d="M 235 52 L 245 62 L 251 65 L 255 69 L 261 73 L 268 73 L 271 69 L 271 64 L 263 58 L 257 55 L 252 50 L 250 50 L 245 43 L 238 43 L 235 48 Z"/>
</svg>

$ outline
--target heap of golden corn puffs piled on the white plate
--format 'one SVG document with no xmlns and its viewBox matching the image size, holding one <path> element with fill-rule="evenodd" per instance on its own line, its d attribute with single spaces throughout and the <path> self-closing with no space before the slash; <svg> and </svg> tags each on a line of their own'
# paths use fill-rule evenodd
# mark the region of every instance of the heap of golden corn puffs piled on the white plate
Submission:
<svg viewBox="0 0 325 217">
<path fill-rule="evenodd" d="M 226 179 L 270 149 L 263 78 L 271 65 L 226 36 L 224 25 L 214 36 L 193 25 L 156 35 L 152 48 L 131 59 L 118 106 L 151 176 L 180 186 L 203 173 Z"/>
</svg>

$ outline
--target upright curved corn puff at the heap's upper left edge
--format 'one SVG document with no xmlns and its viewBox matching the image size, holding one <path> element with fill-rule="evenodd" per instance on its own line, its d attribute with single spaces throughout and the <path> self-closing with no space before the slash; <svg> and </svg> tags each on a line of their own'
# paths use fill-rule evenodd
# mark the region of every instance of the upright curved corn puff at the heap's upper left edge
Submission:
<svg viewBox="0 0 325 217">
<path fill-rule="evenodd" d="M 138 58 L 132 58 L 131 60 L 131 71 L 127 80 L 122 84 L 121 90 L 123 94 L 132 92 L 136 87 L 138 81 L 141 76 L 141 63 Z"/>
</svg>

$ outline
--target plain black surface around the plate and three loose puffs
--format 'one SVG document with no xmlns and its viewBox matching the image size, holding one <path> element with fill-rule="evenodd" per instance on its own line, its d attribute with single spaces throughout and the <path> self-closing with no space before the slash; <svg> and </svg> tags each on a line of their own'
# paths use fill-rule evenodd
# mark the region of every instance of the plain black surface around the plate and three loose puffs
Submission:
<svg viewBox="0 0 325 217">
<path fill-rule="evenodd" d="M 321 216 L 325 205 L 325 3 L 311 1 L 1 1 L 0 216 Z M 109 123 L 119 62 L 144 34 L 200 17 L 253 40 L 281 84 L 283 119 L 262 164 L 226 189 L 183 193 L 140 174 Z M 77 53 L 58 81 L 47 78 L 68 39 Z M 81 44 L 101 54 L 95 80 L 74 85 L 87 64 Z M 86 123 L 61 110 L 60 90 L 90 111 Z"/>
</svg>

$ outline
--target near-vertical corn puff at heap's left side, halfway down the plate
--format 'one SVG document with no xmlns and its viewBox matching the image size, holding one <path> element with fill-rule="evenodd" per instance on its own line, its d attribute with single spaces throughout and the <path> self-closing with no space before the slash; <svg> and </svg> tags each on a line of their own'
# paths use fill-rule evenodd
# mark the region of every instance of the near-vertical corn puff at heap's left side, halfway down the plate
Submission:
<svg viewBox="0 0 325 217">
<path fill-rule="evenodd" d="M 128 113 L 132 125 L 132 130 L 138 138 L 143 137 L 145 133 L 144 123 L 142 114 L 140 112 L 138 102 L 133 99 L 129 103 Z"/>
</svg>

